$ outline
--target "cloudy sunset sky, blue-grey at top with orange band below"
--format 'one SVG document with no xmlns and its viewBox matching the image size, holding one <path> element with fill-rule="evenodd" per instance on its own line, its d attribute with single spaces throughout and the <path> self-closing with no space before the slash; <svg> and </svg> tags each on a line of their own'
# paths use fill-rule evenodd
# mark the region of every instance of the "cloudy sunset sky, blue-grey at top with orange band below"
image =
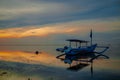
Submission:
<svg viewBox="0 0 120 80">
<path fill-rule="evenodd" d="M 91 29 L 120 40 L 120 1 L 0 0 L 1 44 L 53 43 Z"/>
</svg>

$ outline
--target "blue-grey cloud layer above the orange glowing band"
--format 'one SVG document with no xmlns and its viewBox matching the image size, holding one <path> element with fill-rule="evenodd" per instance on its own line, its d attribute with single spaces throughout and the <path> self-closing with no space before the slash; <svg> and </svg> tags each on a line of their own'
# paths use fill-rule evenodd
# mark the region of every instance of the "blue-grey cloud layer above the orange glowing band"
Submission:
<svg viewBox="0 0 120 80">
<path fill-rule="evenodd" d="M 1 0 L 0 27 L 24 27 L 120 15 L 118 0 Z"/>
</svg>

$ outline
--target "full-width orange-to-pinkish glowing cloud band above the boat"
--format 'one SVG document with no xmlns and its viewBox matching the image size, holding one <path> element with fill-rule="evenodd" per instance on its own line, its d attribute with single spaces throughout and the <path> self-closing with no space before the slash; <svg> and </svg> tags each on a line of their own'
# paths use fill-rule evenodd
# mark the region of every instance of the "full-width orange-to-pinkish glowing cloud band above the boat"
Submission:
<svg viewBox="0 0 120 80">
<path fill-rule="evenodd" d="M 59 34 L 85 34 L 90 29 L 96 32 L 120 30 L 119 21 L 85 20 L 43 26 L 26 26 L 0 30 L 0 38 L 48 37 Z"/>
</svg>

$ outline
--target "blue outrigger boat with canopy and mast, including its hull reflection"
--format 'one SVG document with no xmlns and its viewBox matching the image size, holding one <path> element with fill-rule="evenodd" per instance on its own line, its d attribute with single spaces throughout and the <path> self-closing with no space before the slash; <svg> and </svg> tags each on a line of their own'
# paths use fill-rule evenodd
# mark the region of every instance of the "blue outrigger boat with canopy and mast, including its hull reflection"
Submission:
<svg viewBox="0 0 120 80">
<path fill-rule="evenodd" d="M 56 51 L 63 54 L 58 55 L 56 58 L 64 61 L 66 64 L 72 64 L 73 61 L 80 62 L 93 62 L 96 58 L 103 56 L 109 58 L 103 53 L 109 49 L 108 46 L 98 46 L 97 44 L 92 44 L 92 30 L 90 32 L 91 43 L 88 46 L 89 41 L 79 40 L 79 39 L 67 39 L 69 41 L 69 46 L 64 46 L 64 48 L 57 48 Z M 72 46 L 72 43 L 76 43 L 76 47 Z M 82 46 L 82 44 L 86 44 Z M 97 48 L 103 48 L 102 51 L 97 52 Z M 63 57 L 64 56 L 64 57 Z"/>
</svg>

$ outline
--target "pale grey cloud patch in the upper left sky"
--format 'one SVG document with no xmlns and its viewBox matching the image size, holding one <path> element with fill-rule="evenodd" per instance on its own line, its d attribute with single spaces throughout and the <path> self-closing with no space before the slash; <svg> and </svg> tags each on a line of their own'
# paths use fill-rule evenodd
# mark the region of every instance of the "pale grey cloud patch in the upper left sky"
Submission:
<svg viewBox="0 0 120 80">
<path fill-rule="evenodd" d="M 1 20 L 7 18 L 16 18 L 27 15 L 36 15 L 39 16 L 50 16 L 50 15 L 59 15 L 66 13 L 69 11 L 69 5 L 65 5 L 64 3 L 56 3 L 56 2 L 43 2 L 39 3 L 28 1 L 28 0 L 11 0 L 11 1 L 1 1 L 0 7 L 0 15 Z M 7 5 L 6 5 L 7 4 Z"/>
</svg>

